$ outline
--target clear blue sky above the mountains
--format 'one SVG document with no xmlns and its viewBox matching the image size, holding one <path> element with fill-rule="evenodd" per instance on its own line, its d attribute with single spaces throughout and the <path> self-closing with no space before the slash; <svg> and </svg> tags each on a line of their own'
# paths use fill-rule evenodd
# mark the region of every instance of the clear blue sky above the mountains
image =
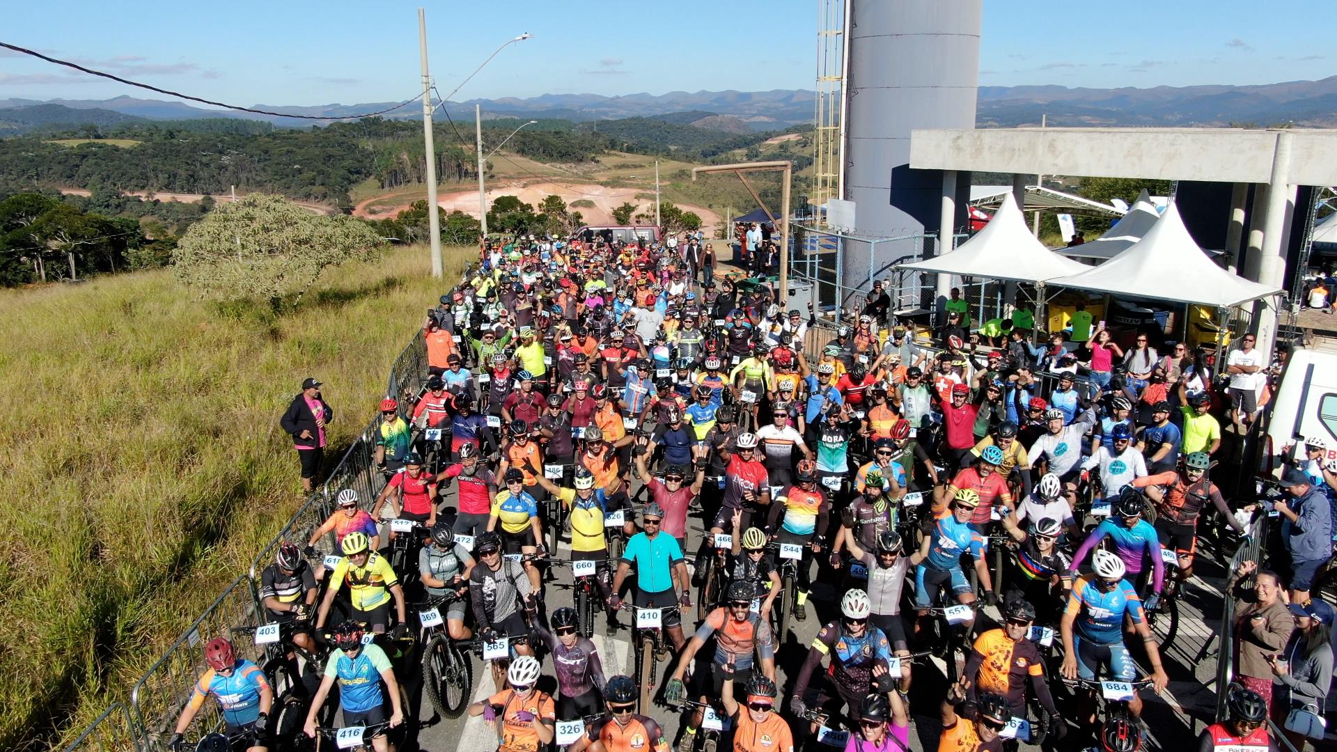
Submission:
<svg viewBox="0 0 1337 752">
<path fill-rule="evenodd" d="M 417 7 L 432 72 L 455 99 L 813 88 L 816 0 L 235 0 L 8 4 L 0 40 L 234 104 L 406 99 Z M 644 8 L 644 9 L 642 9 Z M 654 9 L 650 9 L 654 8 Z M 980 84 L 1257 84 L 1337 74 L 1321 4 L 985 0 Z M 55 15 L 53 15 L 55 13 Z M 743 20 L 746 19 L 746 21 Z M 1306 20 L 1308 19 L 1308 20 Z M 1328 43 L 1328 44 L 1325 44 Z M 159 95 L 0 51 L 0 98 Z"/>
</svg>

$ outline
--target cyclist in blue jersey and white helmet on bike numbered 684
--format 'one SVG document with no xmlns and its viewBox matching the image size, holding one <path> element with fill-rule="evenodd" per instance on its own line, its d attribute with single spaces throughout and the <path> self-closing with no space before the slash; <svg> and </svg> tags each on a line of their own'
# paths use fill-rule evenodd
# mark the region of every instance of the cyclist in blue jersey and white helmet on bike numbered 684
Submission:
<svg viewBox="0 0 1337 752">
<path fill-rule="evenodd" d="M 1114 681 L 1134 681 L 1136 665 L 1123 644 L 1123 620 L 1127 616 L 1142 637 L 1147 658 L 1151 661 L 1151 682 L 1157 693 L 1170 678 L 1161 665 L 1161 650 L 1147 628 L 1138 593 L 1124 579 L 1123 559 L 1110 551 L 1096 551 L 1092 557 L 1094 574 L 1072 582 L 1068 605 L 1063 609 L 1059 630 L 1063 634 L 1063 676 L 1095 680 L 1102 670 Z M 1128 709 L 1142 715 L 1142 698 L 1132 693 Z M 1094 721 L 1087 712 L 1086 723 Z"/>
</svg>

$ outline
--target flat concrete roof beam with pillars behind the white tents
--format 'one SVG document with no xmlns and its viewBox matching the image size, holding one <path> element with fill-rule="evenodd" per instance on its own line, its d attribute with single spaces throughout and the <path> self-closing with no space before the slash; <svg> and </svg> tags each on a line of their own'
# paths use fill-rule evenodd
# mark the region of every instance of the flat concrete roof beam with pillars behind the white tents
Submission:
<svg viewBox="0 0 1337 752">
<path fill-rule="evenodd" d="M 1238 273 L 1284 289 L 1289 285 L 1282 240 L 1296 217 L 1298 186 L 1337 185 L 1337 130 L 912 130 L 909 151 L 910 169 L 941 171 L 944 187 L 955 187 L 960 171 L 1231 183 L 1229 265 L 1234 270 L 1243 252 Z M 1246 206 L 1250 183 L 1254 198 Z M 1013 191 L 1024 191 L 1020 178 Z M 1023 197 L 1017 199 L 1020 205 Z M 941 237 L 951 237 L 956 211 L 955 190 L 943 190 Z M 1255 308 L 1253 325 L 1258 347 L 1270 352 L 1275 316 L 1261 312 Z"/>
</svg>

